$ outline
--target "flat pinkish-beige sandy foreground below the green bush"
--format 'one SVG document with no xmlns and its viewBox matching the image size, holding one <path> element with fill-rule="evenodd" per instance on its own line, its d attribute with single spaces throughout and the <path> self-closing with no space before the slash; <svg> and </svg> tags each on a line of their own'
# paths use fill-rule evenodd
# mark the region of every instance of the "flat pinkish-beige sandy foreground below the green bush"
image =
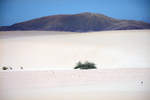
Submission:
<svg viewBox="0 0 150 100">
<path fill-rule="evenodd" d="M 0 100 L 150 100 L 150 69 L 1 71 Z"/>
</svg>

